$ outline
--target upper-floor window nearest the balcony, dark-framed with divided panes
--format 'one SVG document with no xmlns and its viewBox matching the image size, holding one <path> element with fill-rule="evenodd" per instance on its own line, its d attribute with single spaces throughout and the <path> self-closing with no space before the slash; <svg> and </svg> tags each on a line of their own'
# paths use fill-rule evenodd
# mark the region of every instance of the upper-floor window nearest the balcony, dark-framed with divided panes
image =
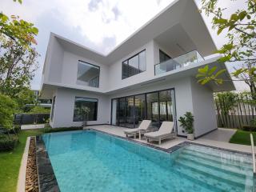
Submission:
<svg viewBox="0 0 256 192">
<path fill-rule="evenodd" d="M 129 78 L 134 74 L 142 73 L 146 70 L 146 50 L 142 50 L 133 57 L 122 62 L 122 79 Z"/>
</svg>

